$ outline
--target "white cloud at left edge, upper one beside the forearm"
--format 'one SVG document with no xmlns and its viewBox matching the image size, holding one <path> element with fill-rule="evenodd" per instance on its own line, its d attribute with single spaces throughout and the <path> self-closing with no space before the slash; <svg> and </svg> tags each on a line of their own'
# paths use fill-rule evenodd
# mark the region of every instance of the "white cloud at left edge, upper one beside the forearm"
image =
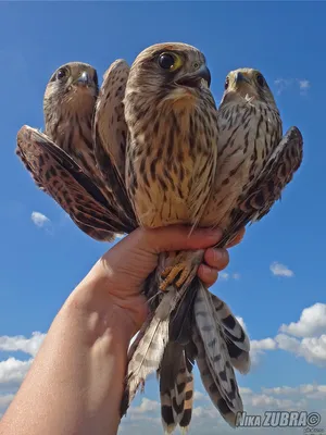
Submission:
<svg viewBox="0 0 326 435">
<path fill-rule="evenodd" d="M 0 336 L 0 350 L 3 351 L 23 351 L 33 357 L 36 356 L 46 334 L 34 332 L 30 338 L 26 338 L 23 335 L 16 335 L 9 337 L 7 335 Z"/>
</svg>

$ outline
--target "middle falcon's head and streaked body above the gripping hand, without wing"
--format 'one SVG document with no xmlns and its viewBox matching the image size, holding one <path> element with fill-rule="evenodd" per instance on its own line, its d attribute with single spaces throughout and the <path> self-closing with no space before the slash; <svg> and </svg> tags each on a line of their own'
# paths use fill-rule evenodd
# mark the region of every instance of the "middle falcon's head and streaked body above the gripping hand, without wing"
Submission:
<svg viewBox="0 0 326 435">
<path fill-rule="evenodd" d="M 196 225 L 201 219 L 217 141 L 205 79 L 203 54 L 184 44 L 152 46 L 131 65 L 124 98 L 126 185 L 142 226 Z"/>
</svg>

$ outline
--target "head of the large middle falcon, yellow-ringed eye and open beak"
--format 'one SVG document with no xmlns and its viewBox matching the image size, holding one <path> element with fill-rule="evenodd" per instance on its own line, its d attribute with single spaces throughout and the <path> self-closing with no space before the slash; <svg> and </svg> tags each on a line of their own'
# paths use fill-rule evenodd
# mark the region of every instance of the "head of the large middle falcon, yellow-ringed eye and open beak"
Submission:
<svg viewBox="0 0 326 435">
<path fill-rule="evenodd" d="M 159 99 L 199 95 L 211 84 L 210 70 L 201 51 L 187 44 L 156 44 L 136 58 L 128 77 L 128 92 Z"/>
</svg>

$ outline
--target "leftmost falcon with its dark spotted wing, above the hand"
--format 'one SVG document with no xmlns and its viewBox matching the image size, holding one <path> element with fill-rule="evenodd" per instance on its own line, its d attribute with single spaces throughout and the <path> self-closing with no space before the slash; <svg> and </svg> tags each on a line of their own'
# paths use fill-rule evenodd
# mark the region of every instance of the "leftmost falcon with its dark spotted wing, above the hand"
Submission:
<svg viewBox="0 0 326 435">
<path fill-rule="evenodd" d="M 91 65 L 70 62 L 60 66 L 45 91 L 45 134 L 24 127 L 16 153 L 36 185 L 52 196 L 80 229 L 97 240 L 110 241 L 114 233 L 135 229 L 136 220 L 129 202 L 123 201 L 123 195 L 117 199 L 110 188 L 118 185 L 114 174 L 108 184 L 97 167 L 92 121 L 98 95 L 98 74 Z M 29 149 L 24 148 L 27 144 Z M 73 179 L 77 172 L 87 179 L 86 191 Z M 99 206 L 103 203 L 106 212 Z M 96 204 L 98 215 L 91 211 Z"/>
</svg>

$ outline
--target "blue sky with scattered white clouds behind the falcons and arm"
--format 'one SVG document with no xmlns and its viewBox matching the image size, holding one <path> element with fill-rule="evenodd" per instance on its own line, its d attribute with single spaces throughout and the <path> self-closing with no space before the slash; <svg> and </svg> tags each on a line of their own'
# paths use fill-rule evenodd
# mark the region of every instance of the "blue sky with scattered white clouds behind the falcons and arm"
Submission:
<svg viewBox="0 0 326 435">
<path fill-rule="evenodd" d="M 255 340 L 252 372 L 239 377 L 246 403 L 256 411 L 322 406 L 315 401 L 326 398 L 325 14 L 323 2 L 0 4 L 0 414 L 28 369 L 39 334 L 109 248 L 83 234 L 35 187 L 14 154 L 16 133 L 24 124 L 43 126 L 45 87 L 61 64 L 88 62 L 102 76 L 115 59 L 131 63 L 143 48 L 163 41 L 188 42 L 204 52 L 217 102 L 230 70 L 261 70 L 284 128 L 297 125 L 303 134 L 304 162 L 294 181 L 283 201 L 231 250 L 214 291 Z M 49 221 L 37 226 L 33 212 Z M 284 386 L 292 388 L 292 398 L 289 389 L 275 389 Z M 309 386 L 313 389 L 306 394 Z M 195 424 L 202 418 L 221 422 L 199 393 Z M 148 422 L 160 433 L 158 420 L 148 420 L 156 419 L 148 414 L 158 411 L 155 381 L 146 397 L 151 401 L 137 398 L 122 432 L 129 424 L 135 434 L 142 433 Z M 301 399 L 305 402 L 298 405 Z"/>
</svg>

